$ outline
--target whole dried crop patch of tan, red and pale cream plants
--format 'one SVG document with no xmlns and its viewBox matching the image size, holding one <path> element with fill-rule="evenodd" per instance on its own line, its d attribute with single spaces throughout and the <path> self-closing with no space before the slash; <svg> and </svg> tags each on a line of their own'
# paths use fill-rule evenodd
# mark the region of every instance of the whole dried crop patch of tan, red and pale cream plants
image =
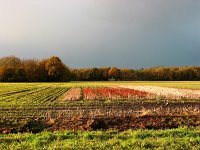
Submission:
<svg viewBox="0 0 200 150">
<path fill-rule="evenodd" d="M 66 100 L 199 100 L 200 90 L 157 86 L 119 86 L 72 88 Z"/>
</svg>

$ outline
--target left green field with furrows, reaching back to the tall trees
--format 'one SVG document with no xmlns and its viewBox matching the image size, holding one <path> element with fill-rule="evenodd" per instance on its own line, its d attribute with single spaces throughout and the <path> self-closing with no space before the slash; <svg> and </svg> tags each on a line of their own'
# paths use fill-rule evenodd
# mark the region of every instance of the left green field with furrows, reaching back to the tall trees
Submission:
<svg viewBox="0 0 200 150">
<path fill-rule="evenodd" d="M 56 83 L 1 83 L 0 105 L 54 104 L 69 88 L 68 84 Z"/>
</svg>

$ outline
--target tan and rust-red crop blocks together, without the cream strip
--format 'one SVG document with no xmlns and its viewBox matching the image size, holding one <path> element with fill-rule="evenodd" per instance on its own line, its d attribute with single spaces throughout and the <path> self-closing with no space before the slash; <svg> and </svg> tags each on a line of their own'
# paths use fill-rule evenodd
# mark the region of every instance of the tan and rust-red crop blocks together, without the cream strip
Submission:
<svg viewBox="0 0 200 150">
<path fill-rule="evenodd" d="M 63 101 L 70 100 L 124 100 L 124 99 L 148 99 L 148 92 L 128 88 L 96 87 L 96 88 L 72 88 L 64 95 Z"/>
</svg>

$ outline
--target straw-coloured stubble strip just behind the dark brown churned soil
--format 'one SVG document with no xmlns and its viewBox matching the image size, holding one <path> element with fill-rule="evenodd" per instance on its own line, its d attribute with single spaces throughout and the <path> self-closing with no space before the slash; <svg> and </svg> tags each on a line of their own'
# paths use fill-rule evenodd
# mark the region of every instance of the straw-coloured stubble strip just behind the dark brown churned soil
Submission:
<svg viewBox="0 0 200 150">
<path fill-rule="evenodd" d="M 199 104 L 142 104 L 130 105 L 96 105 L 96 106 L 60 106 L 60 107 L 23 107 L 1 108 L 0 119 L 12 118 L 46 118 L 48 114 L 54 117 L 62 114 L 65 118 L 83 117 L 120 117 L 120 116 L 200 116 Z"/>
</svg>

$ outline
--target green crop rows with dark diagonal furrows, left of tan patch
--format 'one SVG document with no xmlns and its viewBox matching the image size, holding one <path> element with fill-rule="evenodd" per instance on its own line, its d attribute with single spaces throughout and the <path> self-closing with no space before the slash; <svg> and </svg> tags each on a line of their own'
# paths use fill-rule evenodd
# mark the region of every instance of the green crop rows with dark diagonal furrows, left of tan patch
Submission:
<svg viewBox="0 0 200 150">
<path fill-rule="evenodd" d="M 57 103 L 68 87 L 41 86 L 23 92 L 4 94 L 0 96 L 0 105 L 39 105 Z"/>
</svg>

